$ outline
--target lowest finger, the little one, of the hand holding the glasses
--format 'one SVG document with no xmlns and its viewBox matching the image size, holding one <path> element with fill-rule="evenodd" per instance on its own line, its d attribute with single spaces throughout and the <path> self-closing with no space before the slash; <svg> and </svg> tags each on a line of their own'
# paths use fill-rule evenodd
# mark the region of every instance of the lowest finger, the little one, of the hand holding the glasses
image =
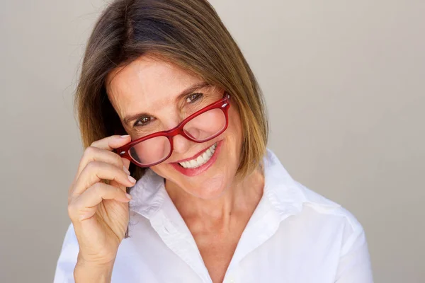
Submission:
<svg viewBox="0 0 425 283">
<path fill-rule="evenodd" d="M 105 183 L 96 183 L 69 204 L 69 218 L 71 218 L 72 221 L 81 221 L 90 218 L 96 213 L 96 206 L 100 204 L 102 200 L 129 202 L 130 199 L 131 196 L 118 189 L 118 187 L 113 187 Z"/>
</svg>

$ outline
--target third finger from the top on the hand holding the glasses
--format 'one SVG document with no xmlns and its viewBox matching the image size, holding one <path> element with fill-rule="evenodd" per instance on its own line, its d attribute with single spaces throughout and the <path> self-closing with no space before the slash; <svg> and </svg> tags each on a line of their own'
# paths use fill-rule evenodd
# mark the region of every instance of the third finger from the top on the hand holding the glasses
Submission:
<svg viewBox="0 0 425 283">
<path fill-rule="evenodd" d="M 136 180 L 125 173 L 124 168 L 118 168 L 109 163 L 91 161 L 86 168 L 81 171 L 79 178 L 74 185 L 72 196 L 81 195 L 88 187 L 101 180 L 115 180 L 115 182 L 126 187 L 135 185 Z"/>
</svg>

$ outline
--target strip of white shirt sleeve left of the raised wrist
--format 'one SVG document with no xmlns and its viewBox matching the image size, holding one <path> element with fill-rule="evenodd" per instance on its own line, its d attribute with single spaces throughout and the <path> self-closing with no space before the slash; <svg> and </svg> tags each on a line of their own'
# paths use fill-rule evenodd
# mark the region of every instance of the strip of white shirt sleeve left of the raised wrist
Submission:
<svg viewBox="0 0 425 283">
<path fill-rule="evenodd" d="M 75 236 L 74 226 L 69 225 L 64 243 L 57 260 L 55 279 L 53 283 L 70 283 L 74 281 L 74 268 L 77 264 L 79 244 Z"/>
</svg>

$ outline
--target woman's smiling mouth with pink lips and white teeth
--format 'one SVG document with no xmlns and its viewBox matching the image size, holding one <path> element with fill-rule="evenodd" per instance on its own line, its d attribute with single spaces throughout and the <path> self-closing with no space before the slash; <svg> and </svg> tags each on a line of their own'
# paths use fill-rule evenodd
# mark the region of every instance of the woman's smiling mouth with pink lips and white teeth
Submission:
<svg viewBox="0 0 425 283">
<path fill-rule="evenodd" d="M 194 176 L 203 173 L 210 168 L 217 160 L 222 141 L 217 141 L 208 149 L 200 151 L 191 158 L 182 159 L 180 161 L 170 163 L 177 171 L 187 176 Z"/>
</svg>

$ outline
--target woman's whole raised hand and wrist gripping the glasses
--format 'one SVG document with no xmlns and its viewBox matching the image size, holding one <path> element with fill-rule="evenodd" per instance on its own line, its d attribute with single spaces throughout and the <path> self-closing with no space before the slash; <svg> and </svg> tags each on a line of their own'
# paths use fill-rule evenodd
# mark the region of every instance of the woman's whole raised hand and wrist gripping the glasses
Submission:
<svg viewBox="0 0 425 283">
<path fill-rule="evenodd" d="M 127 231 L 130 195 L 126 187 L 135 185 L 130 161 L 115 154 L 130 136 L 114 135 L 94 141 L 79 163 L 69 187 L 68 214 L 79 243 L 79 263 L 111 265 Z M 111 180 L 110 185 L 102 180 Z"/>
</svg>

